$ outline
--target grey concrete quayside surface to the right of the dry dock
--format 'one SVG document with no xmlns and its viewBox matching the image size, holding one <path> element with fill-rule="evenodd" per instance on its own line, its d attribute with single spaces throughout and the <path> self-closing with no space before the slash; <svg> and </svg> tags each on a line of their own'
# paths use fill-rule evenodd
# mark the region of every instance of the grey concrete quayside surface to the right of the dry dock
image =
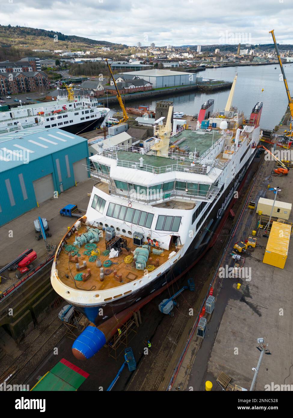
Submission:
<svg viewBox="0 0 293 418">
<path fill-rule="evenodd" d="M 280 187 L 278 200 L 293 203 L 292 173 L 283 177 L 272 175 L 274 166 L 274 162 L 264 162 L 252 200 L 273 199 L 273 191 L 268 190 L 270 184 L 270 187 Z M 256 229 L 258 218 L 255 211 L 245 209 L 222 266 L 229 263 L 234 243 Z M 292 214 L 288 222 L 293 222 Z M 268 390 L 272 384 L 293 383 L 292 370 L 290 372 L 293 364 L 293 236 L 285 268 L 280 269 L 262 263 L 268 242 L 262 235 L 260 230 L 257 237 L 260 247 L 250 250 L 251 256 L 245 256 L 244 266 L 250 269 L 247 272 L 251 271 L 251 280 L 219 279 L 221 289 L 204 340 L 194 336 L 173 390 L 178 387 L 180 390 L 205 390 L 206 380 L 213 383 L 212 390 L 222 390 L 217 383 L 221 372 L 232 378 L 232 385 L 249 390 L 254 375 L 252 367 L 256 367 L 260 356 L 256 348 L 260 337 L 268 343 L 272 355 L 265 355 L 262 360 L 255 390 Z M 237 283 L 241 283 L 239 290 Z"/>
</svg>

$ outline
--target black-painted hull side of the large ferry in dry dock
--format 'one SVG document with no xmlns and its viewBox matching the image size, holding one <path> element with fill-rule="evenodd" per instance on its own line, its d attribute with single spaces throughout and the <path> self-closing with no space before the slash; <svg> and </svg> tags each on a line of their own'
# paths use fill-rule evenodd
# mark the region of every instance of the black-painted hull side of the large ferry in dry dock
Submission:
<svg viewBox="0 0 293 418">
<path fill-rule="evenodd" d="M 118 314 L 127 307 L 131 307 L 140 299 L 150 297 L 151 293 L 158 292 L 160 289 L 163 291 L 166 288 L 166 285 L 178 280 L 181 276 L 186 274 L 188 270 L 199 261 L 209 247 L 214 244 L 214 240 L 217 238 L 215 232 L 220 232 L 222 229 L 224 222 L 228 217 L 229 209 L 234 203 L 234 191 L 239 189 L 244 183 L 247 169 L 255 157 L 255 153 L 252 154 L 250 160 L 245 163 L 245 166 L 239 170 L 233 181 L 226 188 L 224 194 L 218 199 L 217 204 L 208 215 L 205 224 L 201 227 L 201 231 L 196 234 L 194 240 L 189 245 L 189 248 L 176 264 L 169 268 L 169 270 L 166 270 L 156 280 L 153 280 L 143 288 L 140 288 L 121 299 L 99 306 L 75 306 L 76 309 L 98 326 L 114 314 Z M 103 310 L 102 315 L 99 314 L 101 308 Z"/>
</svg>

